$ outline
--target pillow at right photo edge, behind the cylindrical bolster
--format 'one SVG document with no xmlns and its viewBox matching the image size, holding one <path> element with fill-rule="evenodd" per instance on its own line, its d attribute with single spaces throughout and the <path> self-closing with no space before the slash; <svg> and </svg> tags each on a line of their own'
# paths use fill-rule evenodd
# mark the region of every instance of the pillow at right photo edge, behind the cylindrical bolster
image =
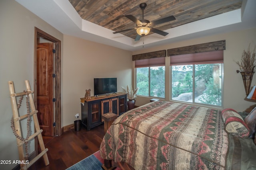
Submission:
<svg viewBox="0 0 256 170">
<path fill-rule="evenodd" d="M 250 129 L 249 137 L 250 138 L 254 137 L 254 135 L 256 133 L 256 107 L 254 109 L 252 109 L 251 113 L 245 117 L 244 122 Z"/>
</svg>

